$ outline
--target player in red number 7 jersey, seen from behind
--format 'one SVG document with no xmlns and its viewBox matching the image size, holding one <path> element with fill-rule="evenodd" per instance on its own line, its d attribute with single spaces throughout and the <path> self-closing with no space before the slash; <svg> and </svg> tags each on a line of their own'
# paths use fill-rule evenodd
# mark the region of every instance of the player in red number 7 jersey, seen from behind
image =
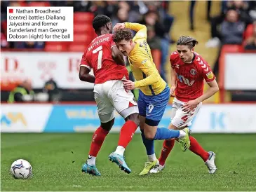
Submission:
<svg viewBox="0 0 256 192">
<path fill-rule="evenodd" d="M 139 121 L 139 110 L 133 93 L 123 88 L 123 81 L 128 79 L 128 71 L 123 61 L 123 54 L 112 40 L 112 22 L 106 15 L 97 15 L 93 20 L 97 37 L 88 45 L 81 59 L 79 78 L 81 81 L 95 83 L 94 95 L 100 127 L 93 134 L 88 160 L 82 166 L 82 172 L 100 176 L 95 167 L 95 159 L 105 137 L 114 124 L 114 109 L 126 120 L 121 128 L 116 151 L 109 155 L 109 160 L 119 165 L 121 170 L 131 170 L 123 158 L 128 143 L 132 140 Z M 89 74 L 93 69 L 94 75 Z"/>
</svg>

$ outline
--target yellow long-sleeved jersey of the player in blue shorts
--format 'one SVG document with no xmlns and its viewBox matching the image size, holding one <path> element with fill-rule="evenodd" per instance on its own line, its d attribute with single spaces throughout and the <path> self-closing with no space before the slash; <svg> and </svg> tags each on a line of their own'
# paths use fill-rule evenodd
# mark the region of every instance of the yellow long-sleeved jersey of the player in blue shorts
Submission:
<svg viewBox="0 0 256 192">
<path fill-rule="evenodd" d="M 147 27 L 132 22 L 126 22 L 125 25 L 137 32 L 133 37 L 135 47 L 128 54 L 130 69 L 136 79 L 135 88 L 140 88 L 144 95 L 159 95 L 166 88 L 166 81 L 161 78 L 153 62 L 147 44 Z"/>
</svg>

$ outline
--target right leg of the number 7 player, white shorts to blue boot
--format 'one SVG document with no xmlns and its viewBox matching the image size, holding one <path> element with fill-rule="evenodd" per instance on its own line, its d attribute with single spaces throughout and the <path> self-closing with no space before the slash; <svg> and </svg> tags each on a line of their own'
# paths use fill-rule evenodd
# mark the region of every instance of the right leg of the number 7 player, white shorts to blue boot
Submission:
<svg viewBox="0 0 256 192">
<path fill-rule="evenodd" d="M 137 102 L 135 102 L 134 95 L 131 91 L 124 90 L 122 81 L 112 81 L 109 100 L 112 102 L 116 111 L 126 120 L 120 131 L 116 151 L 109 155 L 109 160 L 119 165 L 121 170 L 130 173 L 131 170 L 123 158 L 123 153 L 126 146 L 133 139 L 133 135 L 139 125 Z"/>
</svg>

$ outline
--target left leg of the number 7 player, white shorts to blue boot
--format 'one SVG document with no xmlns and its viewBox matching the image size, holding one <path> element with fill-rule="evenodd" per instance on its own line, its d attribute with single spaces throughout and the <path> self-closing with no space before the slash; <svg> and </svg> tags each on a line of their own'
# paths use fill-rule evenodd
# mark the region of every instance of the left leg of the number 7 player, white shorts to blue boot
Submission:
<svg viewBox="0 0 256 192">
<path fill-rule="evenodd" d="M 97 176 L 100 176 L 100 172 L 95 166 L 97 153 L 100 151 L 100 148 L 105 141 L 105 137 L 114 124 L 114 107 L 112 106 L 111 102 L 109 102 L 108 98 L 105 97 L 105 92 L 102 86 L 103 84 L 97 84 L 94 88 L 95 101 L 97 103 L 97 113 L 101 123 L 100 127 L 97 128 L 93 134 L 88 159 L 82 167 L 82 172 Z"/>
</svg>

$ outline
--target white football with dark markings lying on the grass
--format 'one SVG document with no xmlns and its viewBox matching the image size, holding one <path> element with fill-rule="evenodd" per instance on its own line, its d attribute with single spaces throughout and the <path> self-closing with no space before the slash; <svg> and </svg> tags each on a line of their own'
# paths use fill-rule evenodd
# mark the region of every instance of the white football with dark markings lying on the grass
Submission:
<svg viewBox="0 0 256 192">
<path fill-rule="evenodd" d="M 32 176 L 32 166 L 27 160 L 15 160 L 11 164 L 11 174 L 15 179 L 28 179 Z"/>
</svg>

